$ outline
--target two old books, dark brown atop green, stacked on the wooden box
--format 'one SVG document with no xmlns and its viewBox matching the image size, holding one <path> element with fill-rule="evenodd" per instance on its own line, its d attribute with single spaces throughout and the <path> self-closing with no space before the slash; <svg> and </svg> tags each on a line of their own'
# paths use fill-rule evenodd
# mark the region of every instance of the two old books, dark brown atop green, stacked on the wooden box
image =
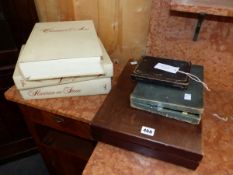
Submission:
<svg viewBox="0 0 233 175">
<path fill-rule="evenodd" d="M 131 75 L 138 82 L 130 95 L 130 105 L 179 121 L 199 124 L 204 111 L 203 86 L 184 72 L 203 80 L 203 71 L 203 66 L 186 61 L 144 57 Z"/>
</svg>

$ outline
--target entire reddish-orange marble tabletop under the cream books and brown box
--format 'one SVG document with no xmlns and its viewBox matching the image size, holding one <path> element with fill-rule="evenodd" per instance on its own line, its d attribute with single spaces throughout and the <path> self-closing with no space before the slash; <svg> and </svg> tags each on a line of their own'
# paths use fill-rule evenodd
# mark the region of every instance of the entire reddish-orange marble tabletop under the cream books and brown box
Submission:
<svg viewBox="0 0 233 175">
<path fill-rule="evenodd" d="M 115 65 L 114 69 L 113 84 L 116 84 L 122 66 Z M 5 97 L 22 105 L 90 123 L 106 95 L 23 100 L 13 86 L 5 93 Z M 232 174 L 232 104 L 231 92 L 214 89 L 206 92 L 202 116 L 204 157 L 195 171 L 99 142 L 83 174 Z"/>
</svg>

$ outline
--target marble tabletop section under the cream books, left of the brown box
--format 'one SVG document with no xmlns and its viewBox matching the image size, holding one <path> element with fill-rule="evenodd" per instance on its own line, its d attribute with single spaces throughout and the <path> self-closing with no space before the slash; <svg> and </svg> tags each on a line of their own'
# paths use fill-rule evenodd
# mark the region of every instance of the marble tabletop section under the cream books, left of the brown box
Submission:
<svg viewBox="0 0 233 175">
<path fill-rule="evenodd" d="M 116 84 L 123 65 L 114 64 L 114 78 L 112 86 Z M 79 121 L 90 123 L 102 105 L 107 95 L 63 97 L 41 100 L 24 100 L 15 86 L 5 92 L 7 100 L 17 102 L 54 114 L 70 117 Z"/>
</svg>

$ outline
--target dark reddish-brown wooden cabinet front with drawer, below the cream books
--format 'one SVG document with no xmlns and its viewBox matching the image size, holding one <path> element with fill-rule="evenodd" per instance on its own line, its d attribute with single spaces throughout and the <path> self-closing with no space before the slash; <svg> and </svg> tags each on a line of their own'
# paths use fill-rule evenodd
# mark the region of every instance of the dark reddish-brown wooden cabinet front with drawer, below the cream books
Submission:
<svg viewBox="0 0 233 175">
<path fill-rule="evenodd" d="M 96 145 L 90 125 L 25 105 L 20 109 L 50 174 L 82 174 Z"/>
</svg>

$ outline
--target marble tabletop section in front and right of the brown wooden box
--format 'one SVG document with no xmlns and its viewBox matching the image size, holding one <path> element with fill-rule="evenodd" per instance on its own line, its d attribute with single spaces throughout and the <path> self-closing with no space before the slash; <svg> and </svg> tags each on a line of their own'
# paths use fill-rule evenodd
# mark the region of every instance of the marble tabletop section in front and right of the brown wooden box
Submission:
<svg viewBox="0 0 233 175">
<path fill-rule="evenodd" d="M 205 112 L 202 118 L 204 158 L 195 171 L 98 143 L 83 174 L 233 174 L 233 94 L 212 91 L 205 95 Z"/>
</svg>

